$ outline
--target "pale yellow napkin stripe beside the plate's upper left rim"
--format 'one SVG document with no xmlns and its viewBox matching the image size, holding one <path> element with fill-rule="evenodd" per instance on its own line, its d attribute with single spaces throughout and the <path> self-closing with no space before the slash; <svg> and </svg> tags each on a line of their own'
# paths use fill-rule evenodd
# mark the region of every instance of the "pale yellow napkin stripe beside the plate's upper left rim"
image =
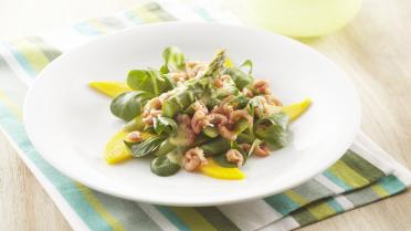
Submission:
<svg viewBox="0 0 411 231">
<path fill-rule="evenodd" d="M 43 67 L 50 63 L 49 59 L 39 49 L 39 46 L 29 42 L 28 40 L 12 41 L 11 44 L 34 67 L 36 73 L 43 70 Z"/>
</svg>

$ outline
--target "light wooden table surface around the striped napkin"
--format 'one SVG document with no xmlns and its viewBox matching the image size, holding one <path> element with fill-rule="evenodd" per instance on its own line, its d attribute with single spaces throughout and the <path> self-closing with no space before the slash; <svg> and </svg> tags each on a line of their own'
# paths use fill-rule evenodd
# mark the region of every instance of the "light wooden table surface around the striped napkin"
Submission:
<svg viewBox="0 0 411 231">
<path fill-rule="evenodd" d="M 136 2 L 0 0 L 0 38 L 38 34 Z M 306 43 L 346 70 L 361 98 L 363 132 L 411 169 L 411 1 L 365 0 L 351 24 Z M 0 230 L 71 230 L 2 134 Z M 301 230 L 411 230 L 411 191 Z"/>
</svg>

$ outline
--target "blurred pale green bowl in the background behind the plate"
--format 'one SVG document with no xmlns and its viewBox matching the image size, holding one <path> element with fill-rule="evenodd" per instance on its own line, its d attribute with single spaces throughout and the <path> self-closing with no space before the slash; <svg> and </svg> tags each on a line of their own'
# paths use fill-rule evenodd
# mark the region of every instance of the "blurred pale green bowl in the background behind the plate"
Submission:
<svg viewBox="0 0 411 231">
<path fill-rule="evenodd" d="M 294 38 L 314 38 L 348 24 L 362 0 L 222 0 L 245 22 Z"/>
</svg>

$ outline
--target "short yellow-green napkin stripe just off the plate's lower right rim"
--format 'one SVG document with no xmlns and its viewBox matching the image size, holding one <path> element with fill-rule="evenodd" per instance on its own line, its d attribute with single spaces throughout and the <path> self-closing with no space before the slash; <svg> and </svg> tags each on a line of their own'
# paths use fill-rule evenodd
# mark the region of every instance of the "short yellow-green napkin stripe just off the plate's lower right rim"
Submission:
<svg viewBox="0 0 411 231">
<path fill-rule="evenodd" d="M 352 170 L 352 168 L 350 168 L 342 161 L 337 161 L 329 168 L 329 170 L 335 176 L 337 176 L 342 181 L 345 181 L 346 183 L 354 188 L 362 187 L 369 183 L 369 181 L 366 178 L 357 174 L 357 171 Z"/>
</svg>

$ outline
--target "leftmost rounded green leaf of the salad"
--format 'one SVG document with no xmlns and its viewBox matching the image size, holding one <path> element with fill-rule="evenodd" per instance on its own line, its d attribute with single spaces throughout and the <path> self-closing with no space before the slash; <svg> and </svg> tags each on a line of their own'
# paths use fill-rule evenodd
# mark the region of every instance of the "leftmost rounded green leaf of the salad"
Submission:
<svg viewBox="0 0 411 231">
<path fill-rule="evenodd" d="M 144 105 L 152 95 L 147 92 L 125 92 L 112 101 L 110 112 L 113 115 L 125 120 L 131 120 L 141 114 Z"/>
</svg>

